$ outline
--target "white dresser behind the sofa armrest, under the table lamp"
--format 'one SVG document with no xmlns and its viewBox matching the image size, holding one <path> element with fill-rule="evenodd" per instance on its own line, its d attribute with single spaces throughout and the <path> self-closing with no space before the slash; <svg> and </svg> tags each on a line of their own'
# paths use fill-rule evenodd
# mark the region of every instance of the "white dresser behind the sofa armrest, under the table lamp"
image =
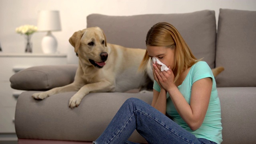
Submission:
<svg viewBox="0 0 256 144">
<path fill-rule="evenodd" d="M 17 98 L 22 92 L 10 87 L 10 77 L 32 66 L 65 65 L 67 54 L 2 53 L 0 52 L 0 143 L 15 136 L 14 116 Z M 7 140 L 6 139 L 6 140 Z M 15 139 L 15 138 L 14 138 Z"/>
</svg>

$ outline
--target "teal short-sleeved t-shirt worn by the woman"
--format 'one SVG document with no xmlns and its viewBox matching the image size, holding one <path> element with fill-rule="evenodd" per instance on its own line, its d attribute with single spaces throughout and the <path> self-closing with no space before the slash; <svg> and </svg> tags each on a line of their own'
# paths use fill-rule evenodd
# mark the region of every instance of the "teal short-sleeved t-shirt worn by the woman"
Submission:
<svg viewBox="0 0 256 144">
<path fill-rule="evenodd" d="M 196 136 L 196 138 L 205 138 L 207 140 L 216 142 L 220 144 L 222 142 L 222 124 L 221 124 L 221 113 L 220 113 L 220 100 L 218 97 L 218 92 L 216 89 L 216 82 L 212 74 L 212 70 L 206 62 L 199 61 L 194 64 L 188 75 L 182 82 L 178 89 L 190 104 L 192 84 L 197 80 L 202 78 L 212 78 L 212 92 L 210 96 L 209 106 L 206 112 L 206 116 L 202 123 L 202 126 L 195 131 L 192 131 L 188 124 L 181 118 L 178 114 L 170 95 L 167 93 L 167 104 L 166 104 L 166 113 L 173 118 L 173 121 L 179 124 L 182 128 L 186 129 L 188 132 L 191 132 Z M 154 90 L 160 92 L 160 86 L 156 81 L 154 81 Z"/>
</svg>

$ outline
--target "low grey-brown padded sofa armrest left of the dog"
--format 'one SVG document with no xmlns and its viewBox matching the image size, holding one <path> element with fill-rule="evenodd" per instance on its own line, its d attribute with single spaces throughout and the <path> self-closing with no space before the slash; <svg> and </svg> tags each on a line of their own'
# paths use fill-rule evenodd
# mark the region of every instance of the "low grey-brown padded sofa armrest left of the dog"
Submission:
<svg viewBox="0 0 256 144">
<path fill-rule="evenodd" d="M 11 87 L 17 90 L 50 90 L 74 81 L 78 66 L 34 66 L 17 72 L 10 78 Z"/>
</svg>

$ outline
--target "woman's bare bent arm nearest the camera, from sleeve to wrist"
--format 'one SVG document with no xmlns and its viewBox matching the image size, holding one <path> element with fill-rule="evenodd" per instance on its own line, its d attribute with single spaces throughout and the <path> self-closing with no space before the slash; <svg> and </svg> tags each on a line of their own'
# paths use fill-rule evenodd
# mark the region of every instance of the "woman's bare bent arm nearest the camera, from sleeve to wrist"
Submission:
<svg viewBox="0 0 256 144">
<path fill-rule="evenodd" d="M 203 78 L 192 85 L 190 105 L 177 87 L 168 89 L 174 106 L 191 130 L 197 130 L 203 123 L 212 90 L 212 79 Z"/>
</svg>

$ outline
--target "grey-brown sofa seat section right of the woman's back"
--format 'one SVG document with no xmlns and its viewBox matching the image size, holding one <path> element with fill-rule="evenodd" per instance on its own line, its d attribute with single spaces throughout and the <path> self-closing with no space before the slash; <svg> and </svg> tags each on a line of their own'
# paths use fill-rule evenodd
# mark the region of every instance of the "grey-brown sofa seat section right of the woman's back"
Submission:
<svg viewBox="0 0 256 144">
<path fill-rule="evenodd" d="M 256 88 L 217 88 L 221 105 L 222 144 L 256 144 Z"/>
</svg>

